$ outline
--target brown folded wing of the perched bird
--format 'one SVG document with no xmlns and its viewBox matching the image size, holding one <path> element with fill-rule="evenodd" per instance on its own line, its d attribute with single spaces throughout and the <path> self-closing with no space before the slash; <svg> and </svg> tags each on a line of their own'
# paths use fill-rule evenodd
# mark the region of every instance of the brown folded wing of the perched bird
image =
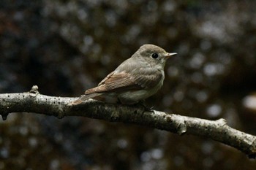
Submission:
<svg viewBox="0 0 256 170">
<path fill-rule="evenodd" d="M 86 90 L 85 94 L 152 88 L 161 79 L 161 72 L 155 69 L 134 70 L 131 73 L 111 72 L 96 88 Z"/>
</svg>

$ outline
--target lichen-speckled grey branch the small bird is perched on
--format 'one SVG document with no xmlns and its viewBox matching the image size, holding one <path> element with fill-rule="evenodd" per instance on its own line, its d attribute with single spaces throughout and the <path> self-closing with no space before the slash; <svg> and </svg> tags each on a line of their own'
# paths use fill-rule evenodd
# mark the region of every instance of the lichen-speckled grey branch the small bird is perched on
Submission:
<svg viewBox="0 0 256 170">
<path fill-rule="evenodd" d="M 83 104 L 68 106 L 77 98 L 45 96 L 37 86 L 26 93 L 0 94 L 0 115 L 3 120 L 12 112 L 34 112 L 64 116 L 83 116 L 111 122 L 133 123 L 170 131 L 175 134 L 192 134 L 213 139 L 244 152 L 249 158 L 256 156 L 256 136 L 230 128 L 224 119 L 203 120 L 156 110 L 146 111 L 141 105 L 107 104 L 89 99 Z"/>
</svg>

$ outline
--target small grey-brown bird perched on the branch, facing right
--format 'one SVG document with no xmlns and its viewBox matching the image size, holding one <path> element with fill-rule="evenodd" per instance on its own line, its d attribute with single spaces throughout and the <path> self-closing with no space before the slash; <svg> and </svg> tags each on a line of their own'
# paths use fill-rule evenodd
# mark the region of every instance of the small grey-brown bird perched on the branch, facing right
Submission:
<svg viewBox="0 0 256 170">
<path fill-rule="evenodd" d="M 107 75 L 97 87 L 85 91 L 68 105 L 81 104 L 89 98 L 109 103 L 137 104 L 162 88 L 165 63 L 170 56 L 157 45 L 142 45 L 130 58 Z"/>
</svg>

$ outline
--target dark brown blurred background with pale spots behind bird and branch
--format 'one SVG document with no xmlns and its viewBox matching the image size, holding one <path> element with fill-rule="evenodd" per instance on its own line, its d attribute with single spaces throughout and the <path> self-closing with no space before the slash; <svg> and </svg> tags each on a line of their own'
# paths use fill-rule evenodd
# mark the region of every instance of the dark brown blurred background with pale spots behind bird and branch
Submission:
<svg viewBox="0 0 256 170">
<path fill-rule="evenodd" d="M 164 112 L 256 135 L 256 1 L 0 1 L 0 93 L 80 96 L 140 45 L 176 52 Z M 255 99 L 256 100 L 256 99 Z M 1 169 L 256 169 L 244 153 L 198 136 L 86 117 L 12 113 L 0 120 Z"/>
</svg>

